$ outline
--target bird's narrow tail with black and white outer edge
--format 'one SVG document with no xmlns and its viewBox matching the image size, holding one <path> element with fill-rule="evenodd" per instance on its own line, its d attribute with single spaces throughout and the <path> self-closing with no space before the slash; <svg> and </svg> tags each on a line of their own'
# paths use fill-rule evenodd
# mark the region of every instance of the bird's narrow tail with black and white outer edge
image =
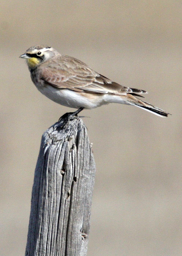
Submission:
<svg viewBox="0 0 182 256">
<path fill-rule="evenodd" d="M 127 94 L 127 99 L 128 99 L 127 101 L 129 104 L 137 106 L 139 108 L 143 108 L 157 116 L 167 117 L 169 114 L 168 112 L 166 112 L 160 108 L 157 108 L 143 100 L 140 100 L 131 94 Z"/>
</svg>

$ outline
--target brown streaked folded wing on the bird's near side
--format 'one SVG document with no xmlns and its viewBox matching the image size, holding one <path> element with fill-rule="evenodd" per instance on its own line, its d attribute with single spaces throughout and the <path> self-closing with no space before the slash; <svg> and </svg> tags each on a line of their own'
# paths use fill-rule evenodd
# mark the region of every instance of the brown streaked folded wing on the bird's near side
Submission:
<svg viewBox="0 0 182 256">
<path fill-rule="evenodd" d="M 74 61 L 77 61 L 74 59 Z M 78 64 L 78 63 L 77 63 Z M 42 66 L 39 70 L 40 79 L 46 84 L 56 88 L 74 90 L 78 92 L 92 92 L 104 94 L 126 95 L 127 93 L 145 93 L 139 89 L 131 89 L 110 79 L 102 76 L 94 70 L 90 69 L 86 64 L 79 63 L 80 66 L 68 65 L 67 68 L 63 65 Z"/>
</svg>

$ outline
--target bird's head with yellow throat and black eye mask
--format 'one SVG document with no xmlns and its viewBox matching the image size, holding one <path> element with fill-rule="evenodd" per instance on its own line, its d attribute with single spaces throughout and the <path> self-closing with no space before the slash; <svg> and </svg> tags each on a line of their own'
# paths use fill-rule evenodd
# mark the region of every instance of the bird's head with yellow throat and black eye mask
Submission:
<svg viewBox="0 0 182 256">
<path fill-rule="evenodd" d="M 56 53 L 57 51 L 49 46 L 32 46 L 20 58 L 26 59 L 29 70 L 32 70 L 45 60 L 55 56 Z"/>
</svg>

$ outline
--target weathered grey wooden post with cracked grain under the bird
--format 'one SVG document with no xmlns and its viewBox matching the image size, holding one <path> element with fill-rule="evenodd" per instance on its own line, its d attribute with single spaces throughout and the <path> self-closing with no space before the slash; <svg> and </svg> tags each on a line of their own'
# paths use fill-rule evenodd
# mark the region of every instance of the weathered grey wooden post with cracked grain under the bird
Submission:
<svg viewBox="0 0 182 256">
<path fill-rule="evenodd" d="M 25 256 L 86 255 L 94 176 L 92 149 L 80 118 L 62 118 L 44 132 Z"/>
</svg>

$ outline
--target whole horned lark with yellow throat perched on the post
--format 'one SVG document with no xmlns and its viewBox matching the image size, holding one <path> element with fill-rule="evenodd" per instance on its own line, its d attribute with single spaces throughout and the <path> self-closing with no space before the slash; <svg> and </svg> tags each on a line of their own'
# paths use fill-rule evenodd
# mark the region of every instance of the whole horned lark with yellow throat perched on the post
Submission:
<svg viewBox="0 0 182 256">
<path fill-rule="evenodd" d="M 91 109 L 108 103 L 120 103 L 143 108 L 158 116 L 169 113 L 136 96 L 146 94 L 140 89 L 117 84 L 75 58 L 62 55 L 49 46 L 33 46 L 20 58 L 25 58 L 31 79 L 37 89 L 63 106 Z"/>
</svg>

